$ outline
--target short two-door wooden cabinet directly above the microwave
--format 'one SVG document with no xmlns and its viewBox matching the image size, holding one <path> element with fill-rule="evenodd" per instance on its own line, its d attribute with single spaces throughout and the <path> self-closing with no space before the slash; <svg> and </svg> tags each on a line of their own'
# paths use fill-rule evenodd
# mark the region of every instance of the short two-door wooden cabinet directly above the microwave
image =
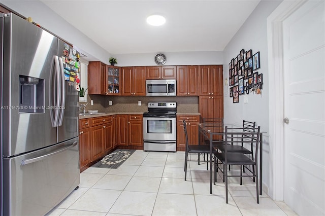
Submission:
<svg viewBox="0 0 325 216">
<path fill-rule="evenodd" d="M 176 66 L 149 66 L 146 67 L 147 80 L 176 79 Z"/>
</svg>

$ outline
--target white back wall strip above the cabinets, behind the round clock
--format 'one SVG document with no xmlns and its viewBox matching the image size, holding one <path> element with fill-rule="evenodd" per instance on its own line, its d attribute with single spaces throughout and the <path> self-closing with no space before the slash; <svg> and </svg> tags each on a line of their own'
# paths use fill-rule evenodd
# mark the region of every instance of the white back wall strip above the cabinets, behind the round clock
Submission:
<svg viewBox="0 0 325 216">
<path fill-rule="evenodd" d="M 156 65 L 154 57 L 157 53 L 119 54 L 117 66 L 151 66 Z M 223 52 L 166 52 L 165 65 L 204 65 L 223 64 Z"/>
</svg>

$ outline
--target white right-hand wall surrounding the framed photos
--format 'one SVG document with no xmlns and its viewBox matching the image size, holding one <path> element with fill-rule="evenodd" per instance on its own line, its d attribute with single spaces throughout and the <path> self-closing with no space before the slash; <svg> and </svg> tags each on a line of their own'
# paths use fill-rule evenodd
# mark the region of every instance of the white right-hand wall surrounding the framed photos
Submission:
<svg viewBox="0 0 325 216">
<path fill-rule="evenodd" d="M 229 78 L 229 63 L 241 49 L 252 50 L 252 54 L 259 51 L 261 68 L 256 70 L 263 74 L 262 94 L 248 94 L 248 103 L 244 103 L 244 95 L 239 96 L 239 103 L 233 103 L 229 97 L 229 85 L 224 85 L 224 122 L 238 126 L 243 119 L 256 121 L 261 131 L 267 132 L 263 136 L 263 183 L 264 190 L 272 189 L 272 178 L 269 174 L 269 81 L 268 81 L 268 43 L 267 17 L 275 10 L 281 1 L 261 1 L 248 17 L 231 42 L 223 51 L 223 77 Z M 255 72 L 255 71 L 254 71 Z M 246 94 L 246 93 L 245 93 Z M 272 193 L 271 193 L 272 194 Z"/>
</svg>

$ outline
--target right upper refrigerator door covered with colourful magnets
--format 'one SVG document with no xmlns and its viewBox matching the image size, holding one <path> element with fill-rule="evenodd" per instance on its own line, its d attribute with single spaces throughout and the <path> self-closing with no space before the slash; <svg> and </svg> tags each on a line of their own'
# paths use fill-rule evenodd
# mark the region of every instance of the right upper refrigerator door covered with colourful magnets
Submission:
<svg viewBox="0 0 325 216">
<path fill-rule="evenodd" d="M 61 40 L 59 40 L 58 44 L 58 56 L 63 59 L 61 75 L 63 78 L 65 77 L 62 85 L 62 107 L 60 107 L 62 109 L 60 110 L 58 124 L 58 142 L 61 142 L 79 135 L 79 92 L 76 90 L 75 83 L 77 72 L 73 70 L 74 66 L 72 64 L 64 61 L 64 59 L 73 60 L 77 53 L 74 54 L 73 48 Z"/>
</svg>

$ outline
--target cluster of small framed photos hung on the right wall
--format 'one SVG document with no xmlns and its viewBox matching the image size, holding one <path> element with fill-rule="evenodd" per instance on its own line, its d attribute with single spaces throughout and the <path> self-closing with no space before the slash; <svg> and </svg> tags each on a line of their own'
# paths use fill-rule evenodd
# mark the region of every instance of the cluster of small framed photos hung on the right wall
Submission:
<svg viewBox="0 0 325 216">
<path fill-rule="evenodd" d="M 263 74 L 255 71 L 261 68 L 259 51 L 254 55 L 252 50 L 245 52 L 244 49 L 229 63 L 229 96 L 233 103 L 239 102 L 239 95 L 249 94 L 250 90 L 261 94 L 263 86 Z M 255 71 L 255 72 L 254 72 Z"/>
</svg>

